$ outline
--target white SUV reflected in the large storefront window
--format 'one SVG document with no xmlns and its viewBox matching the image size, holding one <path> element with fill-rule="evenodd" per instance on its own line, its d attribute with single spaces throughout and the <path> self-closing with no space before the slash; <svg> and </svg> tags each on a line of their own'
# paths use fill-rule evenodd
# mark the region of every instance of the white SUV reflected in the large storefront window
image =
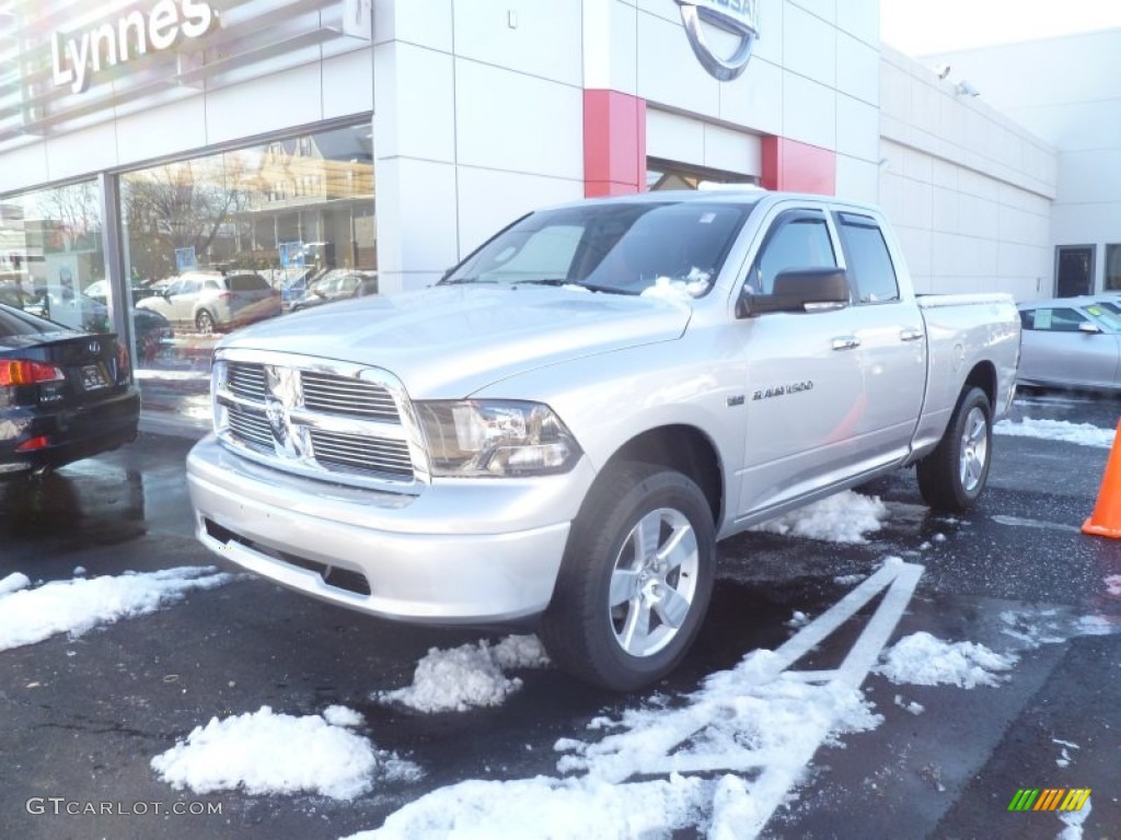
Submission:
<svg viewBox="0 0 1121 840">
<path fill-rule="evenodd" d="M 209 335 L 280 315 L 280 291 L 251 272 L 193 271 L 174 278 L 136 306 L 159 312 L 175 326 Z"/>
</svg>

